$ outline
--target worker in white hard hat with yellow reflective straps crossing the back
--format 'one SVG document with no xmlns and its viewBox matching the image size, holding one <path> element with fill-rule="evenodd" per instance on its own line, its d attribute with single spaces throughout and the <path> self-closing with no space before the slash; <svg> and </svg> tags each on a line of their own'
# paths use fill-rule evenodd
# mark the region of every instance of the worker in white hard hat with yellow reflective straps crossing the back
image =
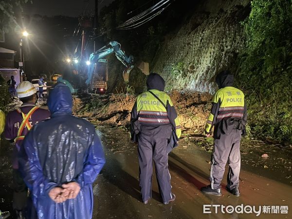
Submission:
<svg viewBox="0 0 292 219">
<path fill-rule="evenodd" d="M 4 137 L 11 143 L 15 143 L 12 158 L 13 208 L 16 210 L 18 219 L 23 219 L 28 205 L 28 191 L 18 169 L 18 151 L 28 131 L 38 122 L 49 118 L 50 112 L 36 106 L 37 90 L 32 83 L 22 81 L 18 84 L 16 92 L 22 105 L 7 114 Z M 28 206 L 27 210 L 30 211 L 30 207 Z"/>
</svg>

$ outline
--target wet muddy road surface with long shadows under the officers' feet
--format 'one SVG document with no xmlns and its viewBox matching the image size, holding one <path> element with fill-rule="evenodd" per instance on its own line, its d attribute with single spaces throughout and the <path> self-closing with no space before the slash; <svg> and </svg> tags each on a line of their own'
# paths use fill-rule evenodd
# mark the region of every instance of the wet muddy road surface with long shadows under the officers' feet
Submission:
<svg viewBox="0 0 292 219">
<path fill-rule="evenodd" d="M 200 188 L 209 184 L 210 153 L 196 147 L 183 147 L 183 143 L 169 154 L 169 170 L 176 200 L 163 205 L 153 175 L 152 199 L 147 205 L 141 202 L 138 181 L 137 146 L 129 142 L 128 132 L 122 128 L 98 127 L 107 163 L 93 185 L 93 219 L 250 219 L 292 218 L 292 185 L 281 183 L 273 177 L 262 176 L 260 169 L 247 171 L 249 164 L 240 173 L 240 197 L 234 197 L 225 189 L 226 174 L 222 182 L 221 197 L 204 195 Z M 4 142 L 4 144 L 3 144 Z M 0 209 L 12 210 L 11 147 L 2 141 L 0 147 Z M 227 168 L 226 168 L 227 170 Z M 155 171 L 153 171 L 155 172 Z M 225 171 L 227 172 L 227 171 Z M 272 173 L 271 173 L 272 174 Z M 266 206 L 288 206 L 288 214 L 203 214 L 203 204 L 240 204 Z M 14 218 L 14 217 L 11 217 Z"/>
</svg>

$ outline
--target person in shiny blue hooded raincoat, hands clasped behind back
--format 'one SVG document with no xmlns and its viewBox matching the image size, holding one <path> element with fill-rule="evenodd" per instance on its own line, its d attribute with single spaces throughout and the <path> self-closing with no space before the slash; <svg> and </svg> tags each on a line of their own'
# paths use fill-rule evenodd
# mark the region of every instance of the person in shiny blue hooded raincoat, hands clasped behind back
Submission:
<svg viewBox="0 0 292 219">
<path fill-rule="evenodd" d="M 32 191 L 38 219 L 91 219 L 92 183 L 105 164 L 94 126 L 72 115 L 69 88 L 50 92 L 51 118 L 26 135 L 19 169 Z"/>
</svg>

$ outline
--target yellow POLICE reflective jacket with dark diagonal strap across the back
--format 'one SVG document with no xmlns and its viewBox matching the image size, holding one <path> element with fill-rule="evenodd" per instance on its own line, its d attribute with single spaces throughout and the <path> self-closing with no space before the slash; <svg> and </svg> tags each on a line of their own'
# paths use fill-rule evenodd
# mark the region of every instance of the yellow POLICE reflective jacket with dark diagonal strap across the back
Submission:
<svg viewBox="0 0 292 219">
<path fill-rule="evenodd" d="M 164 105 L 149 91 L 153 92 Z M 134 132 L 139 133 L 139 126 L 163 126 L 171 124 L 172 129 L 176 131 L 176 135 L 180 138 L 182 131 L 180 121 L 176 110 L 171 102 L 169 95 L 163 91 L 151 89 L 140 94 L 134 104 L 131 113 L 131 139 L 133 140 Z M 138 121 L 138 122 L 137 122 Z M 133 130 L 135 129 L 135 130 Z M 135 141 L 135 140 L 133 140 Z"/>
</svg>

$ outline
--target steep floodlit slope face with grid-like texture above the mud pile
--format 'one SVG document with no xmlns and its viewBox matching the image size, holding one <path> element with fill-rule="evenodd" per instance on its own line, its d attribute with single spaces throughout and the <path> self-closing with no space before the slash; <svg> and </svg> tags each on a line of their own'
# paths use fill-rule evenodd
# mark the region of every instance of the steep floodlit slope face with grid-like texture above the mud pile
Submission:
<svg viewBox="0 0 292 219">
<path fill-rule="evenodd" d="M 215 75 L 237 68 L 237 54 L 243 49 L 240 21 L 249 14 L 249 0 L 206 0 L 200 11 L 175 36 L 165 37 L 151 71 L 160 73 L 166 88 L 213 93 Z"/>
</svg>

